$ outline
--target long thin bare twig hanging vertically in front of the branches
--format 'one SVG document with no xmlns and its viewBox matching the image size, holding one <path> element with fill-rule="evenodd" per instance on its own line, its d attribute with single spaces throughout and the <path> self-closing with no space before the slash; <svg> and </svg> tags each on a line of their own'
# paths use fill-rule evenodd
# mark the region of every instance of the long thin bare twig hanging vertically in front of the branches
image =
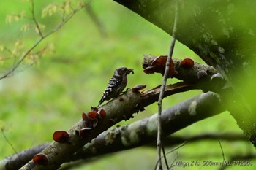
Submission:
<svg viewBox="0 0 256 170">
<path fill-rule="evenodd" d="M 159 95 L 159 100 L 157 102 L 158 104 L 158 127 L 157 127 L 157 155 L 159 158 L 159 162 L 157 163 L 157 169 L 161 170 L 162 169 L 162 161 L 161 161 L 161 148 L 162 148 L 162 141 L 161 141 L 161 136 L 162 136 L 162 125 L 161 125 L 161 117 L 162 117 L 162 99 L 165 96 L 165 85 L 167 82 L 167 75 L 169 73 L 169 69 L 170 69 L 170 61 L 172 60 L 172 55 L 173 55 L 173 49 L 174 49 L 174 45 L 176 42 L 176 25 L 177 25 L 177 18 L 178 18 L 178 1 L 176 1 L 176 5 L 175 5 L 175 16 L 174 16 L 174 23 L 173 23 L 173 36 L 170 42 L 170 52 L 169 55 L 167 57 L 167 61 L 166 61 L 166 65 L 165 65 L 165 74 L 162 80 L 162 87 L 161 87 L 161 92 Z M 165 156 L 165 155 L 164 155 Z M 166 158 L 165 158 L 166 160 Z M 166 163 L 167 165 L 167 163 Z M 167 167 L 167 169 L 169 169 Z"/>
</svg>

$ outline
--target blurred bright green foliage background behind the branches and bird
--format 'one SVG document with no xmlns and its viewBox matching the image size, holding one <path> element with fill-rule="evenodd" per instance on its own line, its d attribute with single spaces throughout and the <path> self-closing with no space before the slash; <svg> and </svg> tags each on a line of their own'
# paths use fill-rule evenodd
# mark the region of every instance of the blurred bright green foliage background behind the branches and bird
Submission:
<svg viewBox="0 0 256 170">
<path fill-rule="evenodd" d="M 60 22 L 57 15 L 40 19 L 42 8 L 51 2 L 35 1 L 36 16 L 45 24 L 46 30 Z M 143 54 L 167 54 L 170 36 L 113 1 L 92 1 L 91 5 L 108 36 L 102 36 L 86 10 L 82 10 L 37 48 L 49 43 L 54 46 L 54 50 L 37 59 L 33 66 L 30 66 L 30 61 L 25 61 L 12 77 L 0 80 L 0 127 L 7 138 L 0 135 L 0 159 L 15 153 L 7 140 L 19 152 L 52 141 L 54 131 L 66 130 L 80 120 L 83 111 L 89 111 L 90 106 L 97 106 L 113 70 L 118 66 L 135 69 L 135 74 L 129 75 L 128 88 L 146 84 L 149 89 L 161 84 L 160 74 L 143 73 L 141 61 Z M 26 47 L 32 45 L 38 38 L 35 31 L 20 31 L 20 27 L 24 23 L 31 23 L 31 20 L 7 23 L 5 19 L 7 15 L 23 10 L 26 10 L 26 15 L 30 15 L 29 3 L 4 0 L 0 1 L 0 7 L 0 44 L 12 49 L 17 39 L 23 39 Z M 8 57 L 8 53 L 0 54 L 1 59 L 5 57 Z M 203 63 L 195 53 L 177 42 L 174 58 L 185 57 Z M 12 62 L 13 58 L 8 61 L 0 60 L 1 74 L 10 69 Z M 169 83 L 176 81 L 169 80 Z M 163 108 L 198 93 L 201 92 L 193 90 L 170 96 L 165 99 Z M 152 104 L 146 111 L 135 115 L 135 119 L 120 124 L 140 120 L 155 112 L 157 104 Z M 242 133 L 233 117 L 224 112 L 176 134 L 192 136 L 230 131 Z M 229 160 L 230 155 L 255 151 L 247 142 L 222 142 L 222 147 L 226 160 Z M 171 149 L 166 148 L 166 151 Z M 170 162 L 175 157 L 176 161 L 222 162 L 222 151 L 218 141 L 202 141 L 187 143 L 178 150 L 178 155 L 173 152 L 167 156 Z M 154 169 L 156 161 L 156 148 L 140 147 L 94 158 L 86 166 L 73 169 Z M 191 166 L 185 169 L 205 168 L 218 169 L 218 166 Z M 241 167 L 233 166 L 232 169 Z M 253 169 L 253 166 L 244 166 L 243 169 Z"/>
</svg>

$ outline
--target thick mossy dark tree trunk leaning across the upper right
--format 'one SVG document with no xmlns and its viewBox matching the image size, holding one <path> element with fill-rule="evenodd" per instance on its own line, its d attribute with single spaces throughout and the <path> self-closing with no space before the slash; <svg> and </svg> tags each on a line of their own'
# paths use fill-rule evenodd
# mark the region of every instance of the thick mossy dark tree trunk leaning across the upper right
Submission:
<svg viewBox="0 0 256 170">
<path fill-rule="evenodd" d="M 114 1 L 172 34 L 175 0 Z M 256 146 L 255 7 L 256 1 L 178 1 L 176 39 L 225 77 L 231 89 L 220 92 L 223 104 Z"/>
</svg>

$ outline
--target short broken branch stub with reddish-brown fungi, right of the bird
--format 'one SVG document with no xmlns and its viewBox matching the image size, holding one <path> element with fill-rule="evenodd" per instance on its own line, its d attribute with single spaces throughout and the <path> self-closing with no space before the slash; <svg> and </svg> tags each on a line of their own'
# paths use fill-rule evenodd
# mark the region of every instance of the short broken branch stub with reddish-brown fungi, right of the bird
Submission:
<svg viewBox="0 0 256 170">
<path fill-rule="evenodd" d="M 143 71 L 146 74 L 160 73 L 164 74 L 167 55 L 144 55 Z M 219 92 L 225 85 L 225 80 L 214 69 L 213 66 L 197 63 L 191 58 L 184 58 L 183 60 L 173 58 L 170 63 L 170 72 L 168 78 L 177 78 L 187 83 L 197 85 L 197 88 L 203 91 Z M 219 80 L 221 79 L 221 80 Z M 218 80 L 218 81 L 217 81 Z"/>
</svg>

